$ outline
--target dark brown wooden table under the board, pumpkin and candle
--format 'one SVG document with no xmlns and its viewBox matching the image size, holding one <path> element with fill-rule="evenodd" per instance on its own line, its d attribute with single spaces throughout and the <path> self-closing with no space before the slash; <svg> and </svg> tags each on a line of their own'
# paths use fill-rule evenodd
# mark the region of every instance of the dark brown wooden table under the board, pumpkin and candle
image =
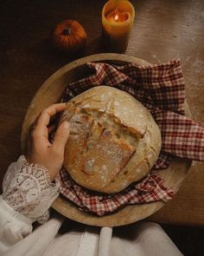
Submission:
<svg viewBox="0 0 204 256">
<path fill-rule="evenodd" d="M 126 54 L 160 63 L 180 57 L 186 98 L 195 121 L 204 123 L 204 2 L 131 1 L 136 20 Z M 0 182 L 20 150 L 22 121 L 41 84 L 63 65 L 105 52 L 101 10 L 105 1 L 10 0 L 0 3 Z M 86 49 L 78 56 L 55 51 L 50 34 L 64 18 L 86 29 Z M 194 162 L 175 198 L 150 220 L 204 225 L 204 165 Z"/>
</svg>

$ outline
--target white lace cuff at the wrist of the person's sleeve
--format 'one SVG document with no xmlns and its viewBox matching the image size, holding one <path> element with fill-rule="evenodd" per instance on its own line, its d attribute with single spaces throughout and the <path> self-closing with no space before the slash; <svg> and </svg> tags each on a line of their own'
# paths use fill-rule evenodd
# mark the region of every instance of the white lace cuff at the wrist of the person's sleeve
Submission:
<svg viewBox="0 0 204 256">
<path fill-rule="evenodd" d="M 48 208 L 59 194 L 59 186 L 50 181 L 48 170 L 29 165 L 24 155 L 11 163 L 3 178 L 3 200 L 33 221 L 48 220 Z"/>
</svg>

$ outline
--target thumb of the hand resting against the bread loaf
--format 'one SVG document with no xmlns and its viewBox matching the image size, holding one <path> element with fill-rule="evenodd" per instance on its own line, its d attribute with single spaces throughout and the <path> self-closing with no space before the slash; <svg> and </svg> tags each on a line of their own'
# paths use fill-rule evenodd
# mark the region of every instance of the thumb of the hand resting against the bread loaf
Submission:
<svg viewBox="0 0 204 256">
<path fill-rule="evenodd" d="M 56 148 L 56 151 L 64 152 L 65 145 L 69 137 L 69 123 L 63 121 L 59 128 L 57 128 L 54 135 L 53 148 Z"/>
</svg>

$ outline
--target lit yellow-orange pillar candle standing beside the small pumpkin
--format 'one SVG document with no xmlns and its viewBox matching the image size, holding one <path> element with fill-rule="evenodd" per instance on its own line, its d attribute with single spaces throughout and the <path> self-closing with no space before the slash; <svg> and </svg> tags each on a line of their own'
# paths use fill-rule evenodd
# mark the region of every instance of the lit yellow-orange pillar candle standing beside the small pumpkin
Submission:
<svg viewBox="0 0 204 256">
<path fill-rule="evenodd" d="M 102 10 L 102 32 L 105 47 L 115 52 L 127 49 L 135 9 L 128 0 L 109 0 Z"/>
</svg>

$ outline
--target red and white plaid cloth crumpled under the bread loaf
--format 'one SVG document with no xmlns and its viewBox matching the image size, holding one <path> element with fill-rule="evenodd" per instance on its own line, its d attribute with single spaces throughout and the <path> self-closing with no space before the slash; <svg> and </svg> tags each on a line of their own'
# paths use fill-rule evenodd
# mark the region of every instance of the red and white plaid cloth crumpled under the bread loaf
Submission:
<svg viewBox="0 0 204 256">
<path fill-rule="evenodd" d="M 61 194 L 83 211 L 99 216 L 127 204 L 170 200 L 173 190 L 163 187 L 162 179 L 154 170 L 168 167 L 173 155 L 195 161 L 204 160 L 204 128 L 184 116 L 185 92 L 180 60 L 150 66 L 134 63 L 112 66 L 92 62 L 87 66 L 92 69 L 92 75 L 69 84 L 61 102 L 67 102 L 94 86 L 107 85 L 122 89 L 150 110 L 161 129 L 162 150 L 156 166 L 143 181 L 131 184 L 117 194 L 98 194 L 80 187 L 62 168 L 57 177 L 61 182 Z"/>
</svg>

